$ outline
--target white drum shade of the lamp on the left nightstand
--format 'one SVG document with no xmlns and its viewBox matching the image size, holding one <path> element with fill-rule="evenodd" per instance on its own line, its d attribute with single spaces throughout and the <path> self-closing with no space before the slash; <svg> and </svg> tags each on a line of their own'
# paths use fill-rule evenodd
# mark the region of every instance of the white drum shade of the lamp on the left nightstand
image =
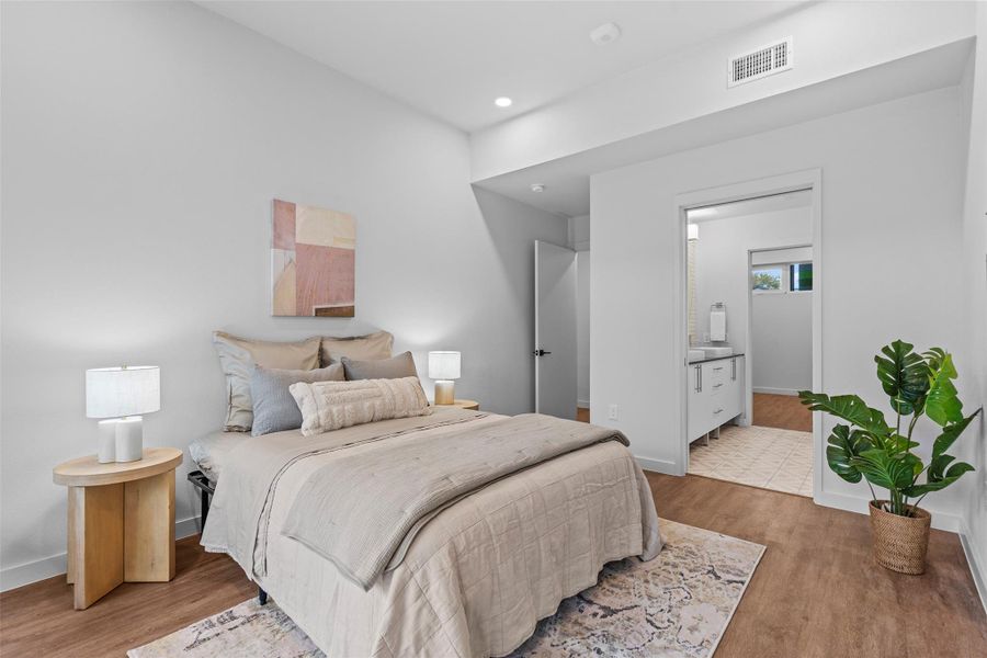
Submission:
<svg viewBox="0 0 987 658">
<path fill-rule="evenodd" d="M 98 367 L 86 371 L 86 416 L 121 418 L 161 408 L 161 371 L 157 365 Z"/>
</svg>

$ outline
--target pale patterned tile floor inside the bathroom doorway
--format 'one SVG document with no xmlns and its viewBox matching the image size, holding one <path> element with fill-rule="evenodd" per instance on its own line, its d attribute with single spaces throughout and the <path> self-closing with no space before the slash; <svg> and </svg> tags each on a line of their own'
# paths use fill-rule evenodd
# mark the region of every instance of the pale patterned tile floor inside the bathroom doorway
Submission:
<svg viewBox="0 0 987 658">
<path fill-rule="evenodd" d="M 813 495 L 810 432 L 724 426 L 719 439 L 703 439 L 689 447 L 689 473 L 741 485 Z"/>
</svg>

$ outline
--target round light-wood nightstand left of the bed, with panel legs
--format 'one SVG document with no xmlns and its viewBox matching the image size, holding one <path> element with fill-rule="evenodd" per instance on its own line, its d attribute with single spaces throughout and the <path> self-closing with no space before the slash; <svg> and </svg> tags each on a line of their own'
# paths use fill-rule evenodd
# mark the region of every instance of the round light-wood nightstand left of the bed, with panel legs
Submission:
<svg viewBox="0 0 987 658">
<path fill-rule="evenodd" d="M 76 610 L 121 582 L 174 578 L 177 447 L 147 447 L 137 462 L 100 464 L 95 455 L 59 464 L 68 487 L 68 582 Z"/>
</svg>

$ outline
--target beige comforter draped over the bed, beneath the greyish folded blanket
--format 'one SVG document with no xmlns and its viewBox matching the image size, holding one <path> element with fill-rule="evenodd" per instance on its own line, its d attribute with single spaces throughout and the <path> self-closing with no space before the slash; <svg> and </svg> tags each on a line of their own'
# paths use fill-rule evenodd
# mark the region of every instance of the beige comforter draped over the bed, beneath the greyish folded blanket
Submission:
<svg viewBox="0 0 987 658">
<path fill-rule="evenodd" d="M 650 490 L 620 443 L 564 454 L 444 509 L 365 592 L 281 532 L 304 483 L 333 460 L 502 418 L 446 410 L 247 440 L 225 467 L 203 544 L 237 559 L 329 656 L 508 654 L 603 564 L 660 549 Z"/>
</svg>

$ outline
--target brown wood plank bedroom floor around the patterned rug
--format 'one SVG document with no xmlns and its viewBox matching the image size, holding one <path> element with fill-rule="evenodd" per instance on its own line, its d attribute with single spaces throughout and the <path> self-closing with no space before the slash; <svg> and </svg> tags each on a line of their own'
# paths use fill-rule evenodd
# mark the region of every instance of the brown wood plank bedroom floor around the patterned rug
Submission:
<svg viewBox="0 0 987 658">
<path fill-rule="evenodd" d="M 658 513 L 768 551 L 716 658 L 987 656 L 987 615 L 955 534 L 932 531 L 924 576 L 877 567 L 867 518 L 786 494 L 648 474 Z M 120 657 L 256 594 L 228 557 L 178 542 L 170 583 L 123 585 L 89 610 L 52 578 L 0 594 L 0 655 Z"/>
</svg>

